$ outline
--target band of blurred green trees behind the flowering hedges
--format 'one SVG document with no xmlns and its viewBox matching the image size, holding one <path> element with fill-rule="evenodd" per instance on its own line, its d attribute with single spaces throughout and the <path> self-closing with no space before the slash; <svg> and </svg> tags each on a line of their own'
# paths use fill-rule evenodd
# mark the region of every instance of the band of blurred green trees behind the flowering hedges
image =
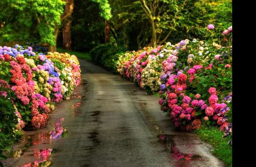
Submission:
<svg viewBox="0 0 256 167">
<path fill-rule="evenodd" d="M 0 10 L 2 46 L 30 41 L 51 51 L 137 50 L 232 23 L 232 0 L 0 0 Z"/>
</svg>

